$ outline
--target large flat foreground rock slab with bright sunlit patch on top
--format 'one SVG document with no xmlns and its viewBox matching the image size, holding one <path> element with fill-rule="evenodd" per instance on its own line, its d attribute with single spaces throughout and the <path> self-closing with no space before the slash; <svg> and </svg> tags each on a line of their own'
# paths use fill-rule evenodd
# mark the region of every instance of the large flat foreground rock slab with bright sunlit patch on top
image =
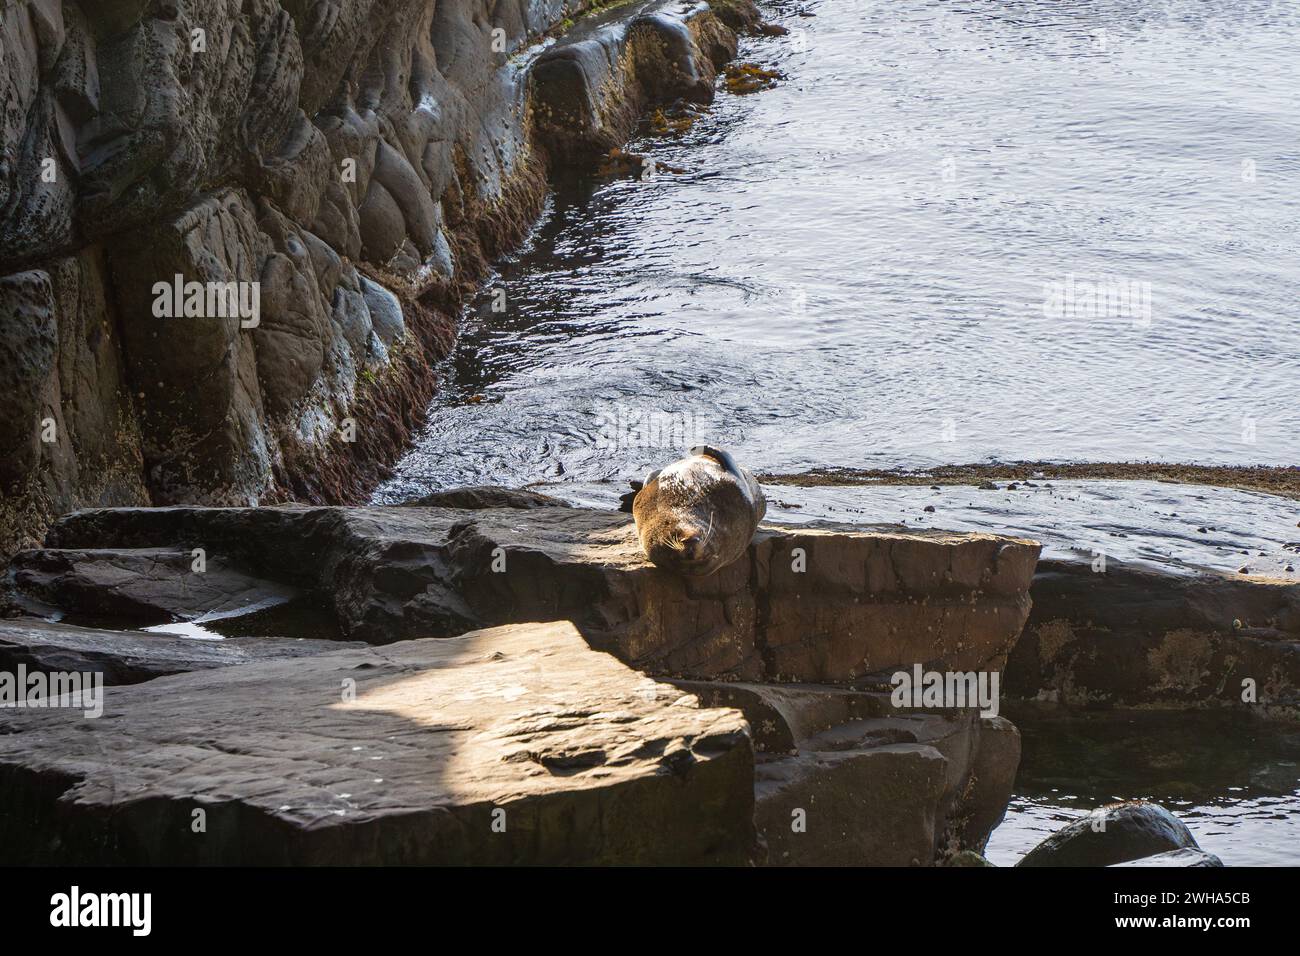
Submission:
<svg viewBox="0 0 1300 956">
<path fill-rule="evenodd" d="M 740 713 L 694 706 L 569 624 L 159 678 L 104 705 L 99 719 L 0 710 L 5 862 L 742 864 L 754 849 Z"/>
</svg>

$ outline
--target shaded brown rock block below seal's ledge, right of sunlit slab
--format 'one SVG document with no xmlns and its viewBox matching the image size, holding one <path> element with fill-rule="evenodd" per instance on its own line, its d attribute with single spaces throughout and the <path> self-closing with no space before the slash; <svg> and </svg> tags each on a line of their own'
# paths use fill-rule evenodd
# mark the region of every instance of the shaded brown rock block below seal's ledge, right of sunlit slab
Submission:
<svg viewBox="0 0 1300 956">
<path fill-rule="evenodd" d="M 900 710 L 887 692 L 842 687 L 675 685 L 749 721 L 771 866 L 928 866 L 983 852 L 1011 796 L 1020 735 L 1000 717 Z"/>
</svg>

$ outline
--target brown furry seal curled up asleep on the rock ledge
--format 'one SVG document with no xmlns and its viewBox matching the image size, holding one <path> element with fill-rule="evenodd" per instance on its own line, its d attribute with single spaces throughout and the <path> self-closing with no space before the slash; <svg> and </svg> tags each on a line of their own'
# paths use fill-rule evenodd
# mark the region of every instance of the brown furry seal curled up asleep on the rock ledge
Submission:
<svg viewBox="0 0 1300 956">
<path fill-rule="evenodd" d="M 740 558 L 766 514 L 767 499 L 754 476 L 731 454 L 707 445 L 651 472 L 632 501 L 646 557 L 693 578 Z"/>
</svg>

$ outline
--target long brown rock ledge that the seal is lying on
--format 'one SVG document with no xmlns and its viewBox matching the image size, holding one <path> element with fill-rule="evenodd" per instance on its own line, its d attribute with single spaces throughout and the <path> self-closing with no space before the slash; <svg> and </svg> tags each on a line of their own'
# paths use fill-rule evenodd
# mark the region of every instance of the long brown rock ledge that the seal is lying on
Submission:
<svg viewBox="0 0 1300 956">
<path fill-rule="evenodd" d="M 645 559 L 628 515 L 558 507 L 116 509 L 62 519 L 48 544 L 22 566 L 202 548 L 317 591 L 343 636 L 372 644 L 568 619 L 650 672 L 819 683 L 1000 670 L 1037 558 L 989 535 L 764 527 L 745 558 L 689 580 Z"/>
</svg>

